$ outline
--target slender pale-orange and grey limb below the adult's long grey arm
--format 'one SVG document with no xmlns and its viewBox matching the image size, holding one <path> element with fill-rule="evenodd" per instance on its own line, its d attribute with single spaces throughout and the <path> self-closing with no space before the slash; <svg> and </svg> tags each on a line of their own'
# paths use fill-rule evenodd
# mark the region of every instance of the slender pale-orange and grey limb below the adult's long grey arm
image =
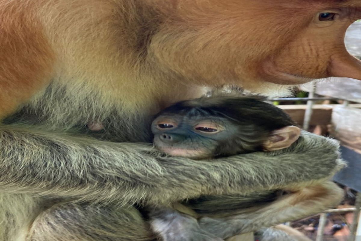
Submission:
<svg viewBox="0 0 361 241">
<path fill-rule="evenodd" d="M 216 219 L 203 217 L 199 225 L 204 231 L 226 239 L 240 233 L 254 232 L 270 225 L 297 220 L 336 206 L 343 198 L 343 190 L 331 181 L 293 191 L 257 211 L 242 210 L 242 214 Z"/>
</svg>

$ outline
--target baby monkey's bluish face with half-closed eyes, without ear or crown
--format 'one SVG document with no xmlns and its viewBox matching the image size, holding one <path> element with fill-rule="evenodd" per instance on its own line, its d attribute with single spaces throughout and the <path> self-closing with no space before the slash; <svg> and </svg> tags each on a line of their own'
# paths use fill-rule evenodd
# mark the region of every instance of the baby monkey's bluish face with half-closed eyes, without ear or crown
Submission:
<svg viewBox="0 0 361 241">
<path fill-rule="evenodd" d="M 162 115 L 152 123 L 157 149 L 173 156 L 205 159 L 222 141 L 232 138 L 235 125 L 218 117 Z"/>
</svg>

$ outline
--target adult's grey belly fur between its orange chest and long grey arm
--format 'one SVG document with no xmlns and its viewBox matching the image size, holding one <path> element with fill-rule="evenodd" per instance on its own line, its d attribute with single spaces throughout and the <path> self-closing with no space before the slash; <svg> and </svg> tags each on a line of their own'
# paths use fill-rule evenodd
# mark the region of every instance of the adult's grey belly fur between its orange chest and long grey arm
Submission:
<svg viewBox="0 0 361 241">
<path fill-rule="evenodd" d="M 100 91 L 77 91 L 50 85 L 4 123 L 41 125 L 43 129 L 86 134 L 115 142 L 151 142 L 152 119 L 152 113 L 147 110 L 125 111 L 121 105 L 104 98 Z M 99 122 L 104 129 L 92 131 L 87 127 L 89 122 Z"/>
</svg>

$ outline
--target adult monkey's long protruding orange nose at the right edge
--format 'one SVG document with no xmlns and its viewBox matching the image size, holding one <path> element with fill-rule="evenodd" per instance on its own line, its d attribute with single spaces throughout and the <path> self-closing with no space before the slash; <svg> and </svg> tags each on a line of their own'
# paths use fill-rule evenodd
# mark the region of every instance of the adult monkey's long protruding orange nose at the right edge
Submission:
<svg viewBox="0 0 361 241">
<path fill-rule="evenodd" d="M 330 76 L 361 80 L 361 60 L 356 59 L 347 51 L 342 54 L 336 53 L 331 56 L 328 71 Z"/>
</svg>

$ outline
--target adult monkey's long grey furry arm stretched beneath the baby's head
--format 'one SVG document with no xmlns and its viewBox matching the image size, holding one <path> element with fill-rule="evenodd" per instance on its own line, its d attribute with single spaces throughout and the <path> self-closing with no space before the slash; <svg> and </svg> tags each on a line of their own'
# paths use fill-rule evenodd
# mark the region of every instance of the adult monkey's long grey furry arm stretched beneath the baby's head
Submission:
<svg viewBox="0 0 361 241">
<path fill-rule="evenodd" d="M 340 165 L 338 145 L 316 135 L 306 136 L 291 153 L 260 152 L 214 161 L 161 157 L 149 145 L 97 141 L 26 126 L 2 125 L 0 142 L 2 190 L 97 201 L 114 198 L 122 203 L 169 203 L 281 188 L 329 176 Z M 317 148 L 312 148 L 315 143 Z M 303 145 L 308 145 L 307 153 Z"/>
</svg>

